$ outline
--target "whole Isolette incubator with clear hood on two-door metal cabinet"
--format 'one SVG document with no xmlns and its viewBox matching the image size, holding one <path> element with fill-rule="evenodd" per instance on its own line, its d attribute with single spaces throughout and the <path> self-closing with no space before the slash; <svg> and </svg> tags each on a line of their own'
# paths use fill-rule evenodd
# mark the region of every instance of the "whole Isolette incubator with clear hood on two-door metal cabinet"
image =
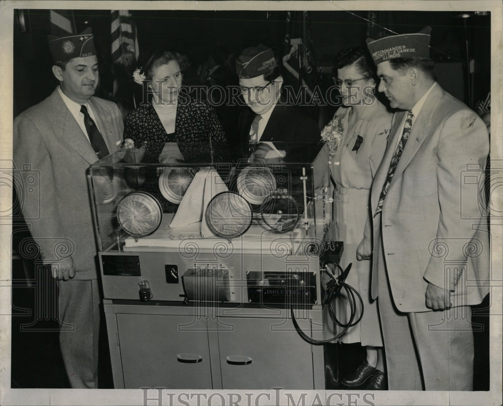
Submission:
<svg viewBox="0 0 503 406">
<path fill-rule="evenodd" d="M 291 311 L 323 338 L 327 148 L 234 164 L 175 149 L 184 161 L 121 149 L 90 168 L 115 387 L 323 389 L 323 347 Z"/>
</svg>

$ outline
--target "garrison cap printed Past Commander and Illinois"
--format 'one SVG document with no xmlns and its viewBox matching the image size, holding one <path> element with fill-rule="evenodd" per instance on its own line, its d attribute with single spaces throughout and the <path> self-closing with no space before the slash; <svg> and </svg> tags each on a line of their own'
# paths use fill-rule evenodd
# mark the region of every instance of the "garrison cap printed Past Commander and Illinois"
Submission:
<svg viewBox="0 0 503 406">
<path fill-rule="evenodd" d="M 401 34 L 377 40 L 367 38 L 367 47 L 374 63 L 413 56 L 430 57 L 431 27 L 425 27 L 415 34 Z"/>
</svg>

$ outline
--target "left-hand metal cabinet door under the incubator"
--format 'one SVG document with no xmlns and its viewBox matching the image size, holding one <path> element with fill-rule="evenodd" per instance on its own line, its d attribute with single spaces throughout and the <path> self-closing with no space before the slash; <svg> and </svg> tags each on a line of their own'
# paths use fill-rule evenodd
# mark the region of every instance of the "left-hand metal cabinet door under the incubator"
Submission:
<svg viewBox="0 0 503 406">
<path fill-rule="evenodd" d="M 126 389 L 212 388 L 205 319 L 117 314 L 117 328 Z"/>
</svg>

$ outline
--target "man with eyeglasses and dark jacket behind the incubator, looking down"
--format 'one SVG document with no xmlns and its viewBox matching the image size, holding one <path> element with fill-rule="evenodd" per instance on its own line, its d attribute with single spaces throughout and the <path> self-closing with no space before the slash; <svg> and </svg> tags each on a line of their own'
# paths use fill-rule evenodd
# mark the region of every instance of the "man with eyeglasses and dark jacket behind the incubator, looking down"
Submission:
<svg viewBox="0 0 503 406">
<path fill-rule="evenodd" d="M 239 116 L 242 156 L 295 161 L 319 141 L 316 121 L 281 96 L 283 77 L 271 48 L 246 48 L 236 59 L 241 95 L 249 107 Z"/>
</svg>

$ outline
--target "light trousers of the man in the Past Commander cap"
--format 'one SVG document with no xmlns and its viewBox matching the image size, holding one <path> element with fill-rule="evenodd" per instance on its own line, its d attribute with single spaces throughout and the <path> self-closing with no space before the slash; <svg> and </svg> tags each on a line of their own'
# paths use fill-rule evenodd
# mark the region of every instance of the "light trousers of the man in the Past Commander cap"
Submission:
<svg viewBox="0 0 503 406">
<path fill-rule="evenodd" d="M 379 318 L 390 390 L 472 390 L 471 307 L 403 313 L 393 303 L 382 241 L 378 261 Z M 426 293 L 426 292 L 425 292 Z M 426 300 L 426 299 L 425 299 Z"/>
</svg>

